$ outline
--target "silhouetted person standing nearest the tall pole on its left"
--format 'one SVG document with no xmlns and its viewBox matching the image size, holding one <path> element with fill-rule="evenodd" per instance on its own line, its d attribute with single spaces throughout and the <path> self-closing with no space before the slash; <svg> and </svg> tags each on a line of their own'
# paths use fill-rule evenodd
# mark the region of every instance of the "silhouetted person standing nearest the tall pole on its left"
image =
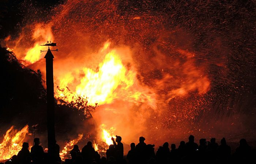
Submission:
<svg viewBox="0 0 256 164">
<path fill-rule="evenodd" d="M 44 156 L 44 150 L 39 145 L 40 144 L 39 138 L 35 138 L 34 143 L 35 145 L 31 148 L 31 157 L 32 157 L 33 164 L 39 164 L 42 162 L 42 159 Z"/>
</svg>

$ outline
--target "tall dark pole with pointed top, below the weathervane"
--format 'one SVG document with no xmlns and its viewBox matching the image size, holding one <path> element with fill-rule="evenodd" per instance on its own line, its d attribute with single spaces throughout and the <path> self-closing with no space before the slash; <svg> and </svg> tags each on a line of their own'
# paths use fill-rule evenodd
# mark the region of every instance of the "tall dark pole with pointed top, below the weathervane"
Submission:
<svg viewBox="0 0 256 164">
<path fill-rule="evenodd" d="M 48 48 L 46 60 L 46 91 L 47 91 L 47 130 L 48 130 L 48 155 L 51 163 L 55 163 L 55 121 L 54 121 L 54 91 L 53 91 L 53 54 Z"/>
</svg>

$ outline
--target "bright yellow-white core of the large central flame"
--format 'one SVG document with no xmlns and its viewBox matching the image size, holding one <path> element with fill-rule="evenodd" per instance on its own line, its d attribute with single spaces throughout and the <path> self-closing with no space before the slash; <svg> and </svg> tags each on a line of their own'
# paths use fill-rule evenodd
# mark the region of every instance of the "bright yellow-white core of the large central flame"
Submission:
<svg viewBox="0 0 256 164">
<path fill-rule="evenodd" d="M 98 72 L 89 68 L 83 71 L 85 76 L 76 86 L 76 93 L 85 94 L 93 104 L 109 104 L 115 97 L 113 92 L 118 85 L 129 87 L 133 84 L 133 79 L 126 76 L 126 69 L 114 50 L 106 54 L 105 60 L 99 64 Z"/>
</svg>

